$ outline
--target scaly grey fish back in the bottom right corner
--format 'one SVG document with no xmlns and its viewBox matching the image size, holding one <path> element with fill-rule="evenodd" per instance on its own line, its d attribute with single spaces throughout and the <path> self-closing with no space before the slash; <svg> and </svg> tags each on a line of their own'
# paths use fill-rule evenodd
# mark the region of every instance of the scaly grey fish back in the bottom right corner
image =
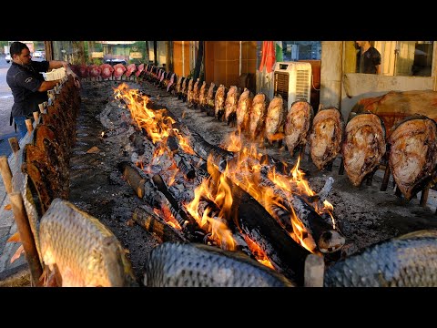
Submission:
<svg viewBox="0 0 437 328">
<path fill-rule="evenodd" d="M 437 231 L 415 231 L 372 245 L 330 266 L 325 287 L 436 287 Z"/>
</svg>

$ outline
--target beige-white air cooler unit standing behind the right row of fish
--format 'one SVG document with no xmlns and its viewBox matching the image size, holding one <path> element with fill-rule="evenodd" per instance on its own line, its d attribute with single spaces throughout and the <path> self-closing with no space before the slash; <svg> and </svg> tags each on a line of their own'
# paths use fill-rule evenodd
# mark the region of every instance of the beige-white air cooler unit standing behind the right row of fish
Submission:
<svg viewBox="0 0 437 328">
<path fill-rule="evenodd" d="M 287 100 L 287 109 L 296 100 L 310 102 L 311 64 L 305 62 L 277 62 L 274 68 L 273 94 Z"/>
</svg>

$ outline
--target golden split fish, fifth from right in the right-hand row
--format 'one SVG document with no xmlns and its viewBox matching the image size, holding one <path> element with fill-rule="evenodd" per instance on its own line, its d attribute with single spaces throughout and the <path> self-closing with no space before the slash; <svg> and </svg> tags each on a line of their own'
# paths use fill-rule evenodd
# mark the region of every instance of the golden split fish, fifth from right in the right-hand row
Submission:
<svg viewBox="0 0 437 328">
<path fill-rule="evenodd" d="M 281 133 L 284 128 L 286 118 L 286 107 L 282 97 L 274 97 L 267 108 L 266 116 L 266 132 L 265 137 L 269 141 L 274 141 L 283 138 Z"/>
</svg>

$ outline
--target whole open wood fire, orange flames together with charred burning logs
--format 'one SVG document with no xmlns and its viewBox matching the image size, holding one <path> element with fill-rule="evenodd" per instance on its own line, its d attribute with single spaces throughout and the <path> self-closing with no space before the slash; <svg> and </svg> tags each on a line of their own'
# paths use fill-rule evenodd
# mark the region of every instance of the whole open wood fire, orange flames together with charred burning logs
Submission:
<svg viewBox="0 0 437 328">
<path fill-rule="evenodd" d="M 338 251 L 344 244 L 344 237 L 336 229 L 333 206 L 326 200 L 332 179 L 316 194 L 299 168 L 300 159 L 289 169 L 285 163 L 258 153 L 254 146 L 242 147 L 240 131 L 231 134 L 227 145 L 222 145 L 231 154 L 223 161 L 211 145 L 205 147 L 208 151 L 199 151 L 196 138 L 171 118 L 167 109 L 152 109 L 149 98 L 137 89 L 121 84 L 114 92 L 153 144 L 153 156 L 138 158 L 137 167 L 149 176 L 158 173 L 162 177 L 173 194 L 169 198 L 178 200 L 178 215 L 195 221 L 204 231 L 204 242 L 230 251 L 249 249 L 259 262 L 275 267 L 266 246 L 245 233 L 236 219 L 239 213 L 234 206 L 234 184 L 257 200 L 304 249 L 320 254 Z M 202 169 L 206 172 L 202 173 Z M 182 230 L 187 220 L 180 225 L 175 210 L 166 209 L 160 204 L 154 211 L 173 228 Z"/>
</svg>

